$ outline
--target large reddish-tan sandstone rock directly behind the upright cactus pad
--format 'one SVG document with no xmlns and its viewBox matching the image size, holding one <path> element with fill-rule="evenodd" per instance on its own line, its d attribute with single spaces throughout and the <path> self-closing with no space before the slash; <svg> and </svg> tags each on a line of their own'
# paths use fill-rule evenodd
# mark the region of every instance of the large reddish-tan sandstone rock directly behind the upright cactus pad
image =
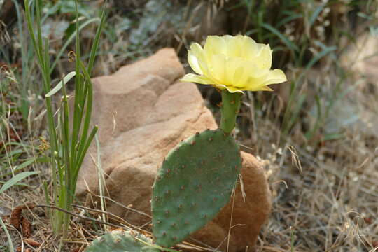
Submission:
<svg viewBox="0 0 378 252">
<path fill-rule="evenodd" d="M 99 125 L 106 191 L 120 203 L 108 201 L 107 210 L 133 225 L 148 228 L 146 224 L 151 223 L 151 186 L 165 155 L 182 139 L 217 127 L 196 85 L 178 80 L 183 74 L 174 50 L 162 49 L 111 76 L 93 80 L 92 123 Z M 97 156 L 95 143 L 89 152 Z M 229 251 L 244 251 L 246 246 L 251 251 L 269 215 L 271 195 L 264 171 L 253 155 L 242 153 L 242 157 L 245 202 L 238 186 L 235 200 L 193 235 L 214 248 L 227 247 L 232 214 Z M 80 170 L 77 195 L 85 196 L 87 188 L 97 193 L 97 181 L 97 168 L 88 155 Z M 130 205 L 139 213 L 123 207 Z"/>
</svg>

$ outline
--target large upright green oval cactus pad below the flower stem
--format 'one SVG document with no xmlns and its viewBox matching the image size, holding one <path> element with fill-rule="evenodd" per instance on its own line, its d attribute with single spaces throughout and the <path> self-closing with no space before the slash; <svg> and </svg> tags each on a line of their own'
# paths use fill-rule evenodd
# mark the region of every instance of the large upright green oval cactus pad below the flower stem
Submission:
<svg viewBox="0 0 378 252">
<path fill-rule="evenodd" d="M 156 243 L 174 246 L 215 218 L 240 168 L 239 146 L 221 129 L 197 133 L 170 151 L 153 186 Z"/>
</svg>

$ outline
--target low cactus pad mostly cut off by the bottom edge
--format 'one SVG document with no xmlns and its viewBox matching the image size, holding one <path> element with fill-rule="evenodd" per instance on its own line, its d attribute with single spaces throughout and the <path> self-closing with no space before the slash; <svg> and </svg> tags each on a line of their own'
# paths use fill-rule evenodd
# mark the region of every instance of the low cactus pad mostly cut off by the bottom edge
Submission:
<svg viewBox="0 0 378 252">
<path fill-rule="evenodd" d="M 146 242 L 144 244 L 141 241 Z M 151 239 L 144 235 L 132 235 L 130 231 L 113 231 L 92 241 L 85 252 L 158 252 L 158 248 L 148 246 L 152 244 Z"/>
</svg>

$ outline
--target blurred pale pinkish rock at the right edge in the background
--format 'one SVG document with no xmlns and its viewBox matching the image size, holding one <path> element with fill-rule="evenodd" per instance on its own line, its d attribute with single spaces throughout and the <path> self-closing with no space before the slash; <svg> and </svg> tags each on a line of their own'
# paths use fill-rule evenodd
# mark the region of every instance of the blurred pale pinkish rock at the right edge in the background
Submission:
<svg viewBox="0 0 378 252">
<path fill-rule="evenodd" d="M 326 127 L 333 130 L 342 126 L 363 132 L 367 138 L 378 137 L 377 48 L 377 34 L 366 32 L 358 36 L 356 43 L 351 43 L 341 55 L 341 65 L 348 73 L 352 73 L 343 85 L 353 89 L 351 92 L 344 91 L 345 94 L 337 98 L 330 111 L 336 116 L 325 122 Z"/>
</svg>

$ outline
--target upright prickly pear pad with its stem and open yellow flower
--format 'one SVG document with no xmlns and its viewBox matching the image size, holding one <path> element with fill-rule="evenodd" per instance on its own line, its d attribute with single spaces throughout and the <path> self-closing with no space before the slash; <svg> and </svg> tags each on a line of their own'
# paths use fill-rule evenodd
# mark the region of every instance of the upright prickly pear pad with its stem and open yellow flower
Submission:
<svg viewBox="0 0 378 252">
<path fill-rule="evenodd" d="M 248 36 L 209 36 L 204 48 L 190 45 L 188 63 L 197 74 L 188 73 L 181 81 L 221 91 L 221 125 L 176 146 L 156 176 L 153 235 L 165 247 L 202 228 L 230 199 L 241 169 L 239 148 L 230 134 L 244 91 L 272 91 L 267 85 L 286 81 L 283 71 L 270 70 L 269 45 Z"/>
</svg>

